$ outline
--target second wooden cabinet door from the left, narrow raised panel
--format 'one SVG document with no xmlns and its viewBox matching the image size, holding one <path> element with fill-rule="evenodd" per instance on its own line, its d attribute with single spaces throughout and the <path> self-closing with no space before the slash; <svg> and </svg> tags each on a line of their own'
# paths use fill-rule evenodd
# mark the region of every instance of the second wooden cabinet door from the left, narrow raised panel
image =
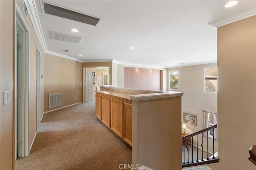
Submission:
<svg viewBox="0 0 256 170">
<path fill-rule="evenodd" d="M 110 98 L 102 96 L 102 122 L 110 128 Z"/>
</svg>

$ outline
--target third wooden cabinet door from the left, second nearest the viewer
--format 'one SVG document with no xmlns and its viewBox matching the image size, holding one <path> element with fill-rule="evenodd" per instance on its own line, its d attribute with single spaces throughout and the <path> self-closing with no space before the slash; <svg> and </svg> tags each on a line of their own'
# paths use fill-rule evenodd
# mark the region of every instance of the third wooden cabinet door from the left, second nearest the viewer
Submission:
<svg viewBox="0 0 256 170">
<path fill-rule="evenodd" d="M 111 127 L 110 129 L 123 138 L 123 102 L 111 99 Z"/>
</svg>

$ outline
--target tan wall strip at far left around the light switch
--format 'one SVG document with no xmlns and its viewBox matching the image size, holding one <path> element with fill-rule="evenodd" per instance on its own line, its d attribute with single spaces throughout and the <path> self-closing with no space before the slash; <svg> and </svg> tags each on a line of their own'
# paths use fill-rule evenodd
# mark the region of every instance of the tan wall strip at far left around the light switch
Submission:
<svg viewBox="0 0 256 170">
<path fill-rule="evenodd" d="M 14 169 L 13 58 L 14 1 L 0 1 L 0 169 Z M 3 105 L 3 92 L 10 103 Z"/>
</svg>

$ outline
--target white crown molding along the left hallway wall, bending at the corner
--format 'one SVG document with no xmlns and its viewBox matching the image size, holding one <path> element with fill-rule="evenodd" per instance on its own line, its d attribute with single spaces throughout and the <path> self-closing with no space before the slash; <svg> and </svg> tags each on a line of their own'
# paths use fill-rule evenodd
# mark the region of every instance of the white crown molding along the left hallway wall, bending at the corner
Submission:
<svg viewBox="0 0 256 170">
<path fill-rule="evenodd" d="M 67 56 L 67 55 L 62 55 L 60 53 L 55 53 L 53 51 L 48 50 L 47 45 L 46 45 L 46 41 L 45 41 L 45 38 L 44 38 L 44 34 L 43 34 L 43 31 L 42 31 L 40 19 L 39 19 L 39 16 L 38 16 L 38 11 L 36 9 L 36 2 L 35 2 L 35 0 L 24 0 L 24 2 L 27 5 L 28 14 L 30 15 L 32 25 L 35 29 L 36 35 L 37 35 L 38 40 L 39 40 L 39 42 L 42 46 L 42 49 L 43 49 L 44 53 L 83 63 L 83 61 L 80 60 L 80 59 L 76 59 L 74 57 L 70 57 L 70 56 Z"/>
</svg>

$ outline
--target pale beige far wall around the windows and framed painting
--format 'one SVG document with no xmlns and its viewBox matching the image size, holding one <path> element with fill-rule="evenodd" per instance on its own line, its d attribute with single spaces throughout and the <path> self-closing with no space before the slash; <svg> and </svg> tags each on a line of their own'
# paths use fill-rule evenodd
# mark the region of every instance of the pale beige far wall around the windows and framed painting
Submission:
<svg viewBox="0 0 256 170">
<path fill-rule="evenodd" d="M 170 71 L 179 71 L 179 92 L 185 92 L 182 96 L 182 123 L 183 112 L 192 113 L 197 115 L 197 125 L 186 124 L 186 134 L 192 134 L 194 132 L 204 129 L 203 113 L 202 110 L 211 111 L 217 113 L 217 93 L 204 92 L 204 68 L 217 67 L 217 63 L 200 64 L 193 66 L 184 66 L 169 68 L 167 74 Z M 169 79 L 169 76 L 167 76 Z M 168 88 L 169 81 L 167 80 Z M 177 90 L 172 90 L 177 91 Z M 183 132 L 184 130 L 181 129 Z M 206 138 L 204 138 L 206 141 Z M 196 141 L 196 138 L 194 139 Z M 201 143 L 201 138 L 198 141 Z M 214 143 L 214 151 L 218 151 L 218 143 Z M 212 149 L 212 138 L 209 141 L 209 151 Z"/>
</svg>

